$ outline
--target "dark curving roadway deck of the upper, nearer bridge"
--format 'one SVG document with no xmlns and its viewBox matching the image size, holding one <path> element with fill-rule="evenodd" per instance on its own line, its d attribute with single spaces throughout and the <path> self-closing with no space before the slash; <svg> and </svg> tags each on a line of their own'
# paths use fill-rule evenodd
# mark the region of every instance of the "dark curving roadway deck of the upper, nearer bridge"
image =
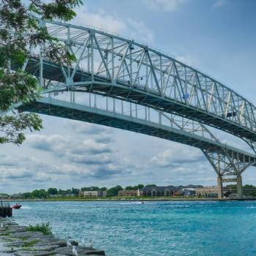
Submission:
<svg viewBox="0 0 256 256">
<path fill-rule="evenodd" d="M 26 67 L 28 72 L 39 76 L 39 60 L 31 59 Z M 49 80 L 59 81 L 64 83 L 64 76 L 61 71 L 61 67 L 57 64 L 49 62 L 43 63 L 43 78 Z M 146 91 L 144 87 L 140 86 L 129 86 L 128 83 L 117 81 L 113 85 L 110 80 L 99 75 L 94 75 L 94 80 L 91 80 L 91 74 L 89 72 L 83 72 L 78 69 L 75 72 L 74 82 L 85 82 L 80 83 L 79 86 L 72 86 L 69 88 L 70 91 L 91 91 L 94 94 L 108 95 L 109 97 L 124 99 L 127 102 L 138 103 L 139 105 L 145 105 L 149 108 L 162 110 L 167 113 L 175 113 L 178 116 L 184 116 L 186 118 L 199 121 L 200 123 L 222 129 L 230 134 L 236 135 L 240 138 L 247 138 L 256 142 L 256 132 L 251 129 L 242 127 L 233 121 L 222 118 L 214 113 L 207 113 L 206 111 L 195 108 L 191 105 L 186 105 L 184 102 L 162 97 L 157 94 L 156 91 Z M 90 84 L 86 85 L 86 82 L 91 81 Z M 59 91 L 66 90 L 64 86 Z M 53 90 L 54 91 L 54 90 Z"/>
</svg>

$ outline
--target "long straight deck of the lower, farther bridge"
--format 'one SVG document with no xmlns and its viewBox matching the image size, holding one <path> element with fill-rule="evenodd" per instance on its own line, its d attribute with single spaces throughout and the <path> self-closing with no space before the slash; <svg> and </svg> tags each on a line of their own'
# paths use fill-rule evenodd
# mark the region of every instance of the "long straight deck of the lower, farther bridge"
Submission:
<svg viewBox="0 0 256 256">
<path fill-rule="evenodd" d="M 140 118 L 124 116 L 108 110 L 91 108 L 89 106 L 64 102 L 58 99 L 39 99 L 37 102 L 29 105 L 21 105 L 19 110 L 86 121 L 94 124 L 102 124 L 108 127 L 125 129 L 132 132 L 139 132 L 145 135 L 184 143 L 189 146 L 194 146 L 216 153 L 222 153 L 223 148 L 225 148 L 227 154 L 239 158 L 243 162 L 255 162 L 256 160 L 256 157 L 253 154 L 246 153 L 231 146 L 226 146 L 208 138 L 203 138 L 199 135 L 191 134 L 189 132 L 167 127 L 151 121 L 145 121 Z"/>
</svg>

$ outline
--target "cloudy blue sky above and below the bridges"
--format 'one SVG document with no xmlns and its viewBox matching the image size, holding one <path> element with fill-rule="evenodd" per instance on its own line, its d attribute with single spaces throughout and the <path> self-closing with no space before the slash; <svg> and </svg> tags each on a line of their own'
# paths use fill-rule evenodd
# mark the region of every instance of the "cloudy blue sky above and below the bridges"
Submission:
<svg viewBox="0 0 256 256">
<path fill-rule="evenodd" d="M 256 1 L 87 0 L 71 23 L 134 39 L 206 72 L 256 105 Z M 135 184 L 216 185 L 200 150 L 119 129 L 41 116 L 22 146 L 1 145 L 0 192 Z M 249 151 L 223 132 L 227 143 Z M 256 185 L 256 169 L 244 174 Z"/>
</svg>

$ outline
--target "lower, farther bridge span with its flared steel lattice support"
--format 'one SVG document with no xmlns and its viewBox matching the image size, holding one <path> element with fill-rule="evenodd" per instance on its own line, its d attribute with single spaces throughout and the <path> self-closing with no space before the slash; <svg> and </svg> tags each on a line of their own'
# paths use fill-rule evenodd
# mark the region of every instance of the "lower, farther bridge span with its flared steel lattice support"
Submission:
<svg viewBox="0 0 256 256">
<path fill-rule="evenodd" d="M 115 104 L 115 102 L 113 103 Z M 106 101 L 106 104 L 108 104 L 108 101 Z M 97 102 L 93 102 L 91 105 L 80 105 L 75 102 L 45 97 L 31 105 L 20 105 L 18 108 L 21 111 L 31 111 L 127 129 L 132 132 L 195 146 L 203 151 L 219 176 L 241 174 L 246 167 L 256 165 L 255 155 L 219 142 L 207 127 L 195 121 L 186 118 L 177 119 L 174 115 L 159 112 L 156 112 L 158 113 L 156 121 L 151 120 L 149 112 L 139 118 L 138 109 L 132 110 L 130 108 L 129 112 L 124 113 L 122 110 L 118 110 L 117 107 L 113 107 L 112 110 L 108 109 L 108 105 L 98 107 Z M 149 109 L 146 110 L 150 111 Z M 151 116 L 153 115 L 154 113 L 151 113 Z M 163 124 L 164 118 L 169 122 Z"/>
</svg>

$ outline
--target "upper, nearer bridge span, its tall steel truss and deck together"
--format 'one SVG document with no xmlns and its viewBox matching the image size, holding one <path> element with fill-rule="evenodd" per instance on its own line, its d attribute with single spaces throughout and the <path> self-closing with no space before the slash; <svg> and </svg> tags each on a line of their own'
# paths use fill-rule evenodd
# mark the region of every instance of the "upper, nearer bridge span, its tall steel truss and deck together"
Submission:
<svg viewBox="0 0 256 256">
<path fill-rule="evenodd" d="M 77 57 L 72 67 L 31 51 L 23 67 L 50 91 L 93 91 L 137 102 L 256 142 L 256 108 L 199 70 L 138 42 L 91 28 L 43 21 Z M 54 82 L 53 82 L 54 81 Z"/>
</svg>

